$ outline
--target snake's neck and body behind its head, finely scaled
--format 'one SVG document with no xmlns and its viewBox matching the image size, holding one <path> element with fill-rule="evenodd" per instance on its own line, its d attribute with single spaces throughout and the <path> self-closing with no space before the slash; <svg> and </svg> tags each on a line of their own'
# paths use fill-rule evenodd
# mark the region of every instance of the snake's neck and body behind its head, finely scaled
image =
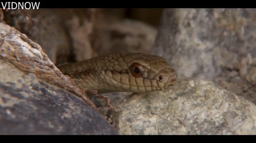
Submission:
<svg viewBox="0 0 256 143">
<path fill-rule="evenodd" d="M 67 63 L 57 66 L 64 74 L 79 80 L 82 90 L 97 90 L 98 94 L 121 92 L 118 86 L 110 84 L 109 79 L 104 76 L 100 59 L 88 59 L 76 63 Z"/>
</svg>

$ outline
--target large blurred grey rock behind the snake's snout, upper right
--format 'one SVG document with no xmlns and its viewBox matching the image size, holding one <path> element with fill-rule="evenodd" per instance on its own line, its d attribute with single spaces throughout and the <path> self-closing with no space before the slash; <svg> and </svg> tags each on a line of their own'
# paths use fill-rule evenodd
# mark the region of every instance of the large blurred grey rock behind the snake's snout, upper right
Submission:
<svg viewBox="0 0 256 143">
<path fill-rule="evenodd" d="M 256 9 L 165 9 L 152 54 L 256 104 Z"/>
</svg>

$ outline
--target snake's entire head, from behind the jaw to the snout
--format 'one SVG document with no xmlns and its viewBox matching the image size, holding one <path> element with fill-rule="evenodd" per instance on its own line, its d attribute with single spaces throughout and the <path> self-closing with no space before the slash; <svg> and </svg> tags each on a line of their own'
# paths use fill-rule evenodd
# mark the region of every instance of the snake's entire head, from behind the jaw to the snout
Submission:
<svg viewBox="0 0 256 143">
<path fill-rule="evenodd" d="M 111 54 L 112 67 L 106 68 L 109 84 L 123 92 L 151 92 L 166 90 L 176 84 L 177 74 L 162 57 L 144 53 Z M 117 61 L 117 62 L 115 62 Z M 116 63 L 116 64 L 114 64 Z M 111 75 L 110 75 L 111 74 Z"/>
</svg>

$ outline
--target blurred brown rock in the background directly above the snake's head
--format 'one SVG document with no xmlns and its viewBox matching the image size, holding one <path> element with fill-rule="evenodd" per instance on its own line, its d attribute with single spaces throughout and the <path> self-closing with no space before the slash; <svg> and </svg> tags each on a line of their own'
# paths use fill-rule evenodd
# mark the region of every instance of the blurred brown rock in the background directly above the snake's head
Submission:
<svg viewBox="0 0 256 143">
<path fill-rule="evenodd" d="M 98 53 L 115 52 L 150 53 L 157 29 L 144 22 L 125 19 L 99 22 Z"/>
</svg>

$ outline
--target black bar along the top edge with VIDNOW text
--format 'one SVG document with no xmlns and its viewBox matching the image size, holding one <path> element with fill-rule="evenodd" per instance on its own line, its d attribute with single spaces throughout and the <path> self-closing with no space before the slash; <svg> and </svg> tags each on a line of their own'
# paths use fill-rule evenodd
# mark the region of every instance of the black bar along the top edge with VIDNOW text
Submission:
<svg viewBox="0 0 256 143">
<path fill-rule="evenodd" d="M 5 9 L 40 9 L 40 8 L 253 8 L 246 3 L 221 3 L 207 1 L 1 1 L 0 8 Z M 247 3 L 249 4 L 249 3 Z"/>
</svg>

